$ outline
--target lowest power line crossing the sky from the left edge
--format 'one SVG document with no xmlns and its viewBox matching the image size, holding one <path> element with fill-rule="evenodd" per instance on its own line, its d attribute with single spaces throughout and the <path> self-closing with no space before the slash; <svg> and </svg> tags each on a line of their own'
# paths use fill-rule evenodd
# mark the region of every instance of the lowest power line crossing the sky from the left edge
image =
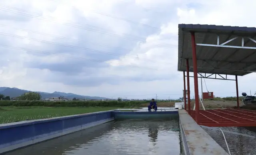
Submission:
<svg viewBox="0 0 256 155">
<path fill-rule="evenodd" d="M 104 62 L 104 61 L 100 61 L 100 60 L 94 60 L 94 59 L 88 59 L 88 58 L 81 58 L 81 57 L 75 57 L 75 56 L 68 56 L 68 55 L 62 55 L 62 54 L 54 54 L 54 53 L 50 53 L 50 52 L 44 52 L 44 51 L 38 51 L 38 50 L 30 50 L 30 49 L 26 49 L 26 48 L 20 48 L 20 47 L 15 47 L 15 46 L 6 46 L 6 45 L 1 45 L 1 47 L 4 48 L 11 48 L 11 49 L 15 49 L 15 50 L 24 50 L 24 51 L 28 51 L 28 52 L 34 52 L 34 53 L 41 53 L 41 54 L 48 54 L 48 55 L 54 55 L 54 56 L 61 56 L 64 58 L 71 58 L 71 59 L 77 59 L 77 60 L 85 60 L 85 61 L 90 61 L 90 62 L 100 62 L 100 63 L 106 63 L 106 64 L 116 64 L 116 63 L 110 63 L 110 62 Z M 120 66 L 128 66 L 128 67 L 136 67 L 136 68 L 142 68 L 142 69 L 147 69 L 147 70 L 156 70 L 156 71 L 160 71 L 158 69 L 155 68 L 146 68 L 146 67 L 140 67 L 140 66 L 133 66 L 133 65 L 124 65 L 124 64 L 119 64 Z M 163 70 L 162 70 L 163 71 Z"/>
</svg>

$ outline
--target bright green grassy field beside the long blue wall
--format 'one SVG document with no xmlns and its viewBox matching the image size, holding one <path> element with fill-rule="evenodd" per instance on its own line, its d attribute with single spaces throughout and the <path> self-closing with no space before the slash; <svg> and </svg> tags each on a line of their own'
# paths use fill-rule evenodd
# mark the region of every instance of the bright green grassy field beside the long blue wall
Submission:
<svg viewBox="0 0 256 155">
<path fill-rule="evenodd" d="M 118 107 L 0 107 L 0 124 L 121 109 Z"/>
</svg>

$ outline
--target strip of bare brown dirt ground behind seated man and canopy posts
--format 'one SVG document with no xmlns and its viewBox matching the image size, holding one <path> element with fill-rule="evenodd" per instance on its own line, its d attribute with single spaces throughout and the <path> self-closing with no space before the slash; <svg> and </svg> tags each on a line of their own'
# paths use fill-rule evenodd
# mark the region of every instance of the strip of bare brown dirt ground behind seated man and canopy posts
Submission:
<svg viewBox="0 0 256 155">
<path fill-rule="evenodd" d="M 174 107 L 175 102 L 158 102 L 158 107 Z M 212 108 L 230 108 L 236 106 L 236 101 L 204 101 L 204 107 L 206 109 Z M 243 106 L 244 104 L 240 102 L 239 106 Z M 147 107 L 148 104 L 142 104 L 142 107 Z M 193 109 L 194 101 L 190 102 L 190 108 Z M 199 104 L 199 108 L 202 108 L 202 105 Z M 256 106 L 255 106 L 256 109 Z"/>
</svg>

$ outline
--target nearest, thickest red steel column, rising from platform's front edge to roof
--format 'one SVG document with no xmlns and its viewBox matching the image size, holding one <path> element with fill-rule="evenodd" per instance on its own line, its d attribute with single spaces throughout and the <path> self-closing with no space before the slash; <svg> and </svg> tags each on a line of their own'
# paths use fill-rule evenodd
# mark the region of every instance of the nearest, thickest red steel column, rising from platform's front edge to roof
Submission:
<svg viewBox="0 0 256 155">
<path fill-rule="evenodd" d="M 194 71 L 194 88 L 195 88 L 195 105 L 196 105 L 196 123 L 200 123 L 199 116 L 199 94 L 198 94 L 198 76 L 197 76 L 197 61 L 196 61 L 196 40 L 195 33 L 191 32 L 191 44 L 192 44 L 192 59 L 193 59 L 193 71 Z"/>
</svg>

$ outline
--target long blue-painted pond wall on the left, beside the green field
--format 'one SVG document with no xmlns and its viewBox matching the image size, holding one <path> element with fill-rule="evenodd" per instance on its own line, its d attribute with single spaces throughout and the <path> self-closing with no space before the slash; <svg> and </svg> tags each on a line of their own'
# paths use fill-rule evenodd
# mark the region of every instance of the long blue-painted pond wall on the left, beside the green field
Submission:
<svg viewBox="0 0 256 155">
<path fill-rule="evenodd" d="M 112 111 L 1 124 L 0 153 L 113 121 Z"/>
</svg>

